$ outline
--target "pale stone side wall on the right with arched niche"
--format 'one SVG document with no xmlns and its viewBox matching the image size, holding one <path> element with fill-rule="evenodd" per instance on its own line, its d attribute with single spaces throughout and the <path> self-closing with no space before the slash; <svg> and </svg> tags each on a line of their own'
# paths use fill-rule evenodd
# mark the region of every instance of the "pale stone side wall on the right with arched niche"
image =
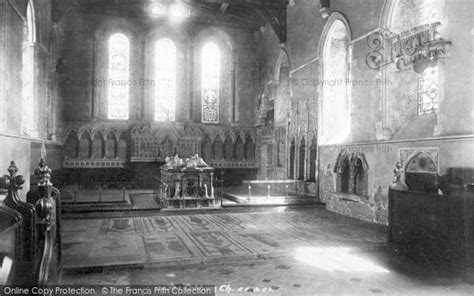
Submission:
<svg viewBox="0 0 474 296">
<path fill-rule="evenodd" d="M 318 146 L 318 197 L 326 203 L 327 208 L 348 216 L 386 224 L 387 194 L 388 186 L 393 181 L 393 167 L 398 161 L 409 161 L 401 159 L 400 151 L 404 148 L 420 151 L 436 149 L 439 174 L 444 174 L 448 167 L 474 166 L 471 156 L 474 151 L 474 91 L 471 83 L 474 77 L 473 3 L 467 0 L 449 1 L 449 4 L 447 1 L 436 1 L 438 4 L 445 3 L 436 10 L 442 11 L 443 15 L 430 21 L 441 22 L 440 37 L 449 40 L 451 44 L 445 48 L 446 55 L 438 60 L 439 111 L 418 115 L 417 81 L 414 81 L 415 84 L 410 81 L 420 76 L 413 69 L 396 72 L 396 68 L 389 65 L 374 70 L 367 64 L 367 56 L 371 51 L 368 37 L 381 28 L 390 29 L 389 19 L 396 11 L 397 1 L 331 1 L 332 14 L 328 18 L 322 17 L 319 1 L 290 2 L 287 9 L 286 44 L 278 44 L 271 37 L 274 34 L 271 31 L 265 31 L 263 34 L 266 36 L 260 38 L 260 47 L 267 51 L 266 56 L 262 57 L 266 63 L 264 69 L 271 69 L 272 63 L 274 68 L 279 66 L 278 58 L 275 57 L 278 50 L 288 53 L 291 65 L 291 99 L 286 107 L 289 110 L 284 110 L 289 114 L 285 147 L 286 176 L 290 175 L 290 168 L 294 169 L 294 176 L 297 176 L 302 163 L 299 161 L 299 153 L 296 153 L 295 165 L 290 166 L 290 158 L 293 156 L 291 143 L 294 142 L 294 151 L 299 151 L 302 136 L 305 136 L 308 147 L 308 139 L 313 135 L 318 138 L 320 133 L 318 105 L 323 100 L 322 86 L 325 83 L 321 76 L 324 66 L 321 45 L 328 31 L 325 25 L 335 17 L 335 13 L 347 22 L 351 32 L 350 78 L 342 82 L 350 86 L 350 134 L 344 141 Z M 428 9 L 421 0 L 412 2 L 412 5 Z M 419 22 L 423 20 L 420 19 Z M 335 170 L 334 166 L 344 149 L 351 153 L 363 153 L 366 158 L 366 195 L 337 191 L 341 172 Z M 263 150 L 265 149 L 259 151 Z M 268 171 L 279 169 L 275 166 L 268 168 L 266 158 L 260 161 L 260 166 L 267 167 Z M 308 159 L 303 162 L 306 167 L 307 161 Z"/>
</svg>

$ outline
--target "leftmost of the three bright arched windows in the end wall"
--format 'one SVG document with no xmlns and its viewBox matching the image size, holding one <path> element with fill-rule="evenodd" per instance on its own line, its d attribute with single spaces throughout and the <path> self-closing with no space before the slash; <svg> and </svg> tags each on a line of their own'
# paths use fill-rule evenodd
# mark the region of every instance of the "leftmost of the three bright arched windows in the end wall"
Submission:
<svg viewBox="0 0 474 296">
<path fill-rule="evenodd" d="M 130 41 L 123 34 L 109 39 L 108 118 L 127 120 L 129 116 Z"/>
</svg>

